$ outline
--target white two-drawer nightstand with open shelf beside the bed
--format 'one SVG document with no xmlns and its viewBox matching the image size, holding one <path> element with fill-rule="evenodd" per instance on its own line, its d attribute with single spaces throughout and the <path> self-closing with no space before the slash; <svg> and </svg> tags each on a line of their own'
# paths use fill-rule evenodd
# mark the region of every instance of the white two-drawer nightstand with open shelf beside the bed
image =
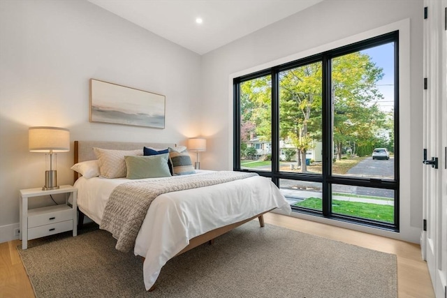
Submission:
<svg viewBox="0 0 447 298">
<path fill-rule="evenodd" d="M 43 195 L 65 193 L 65 204 L 28 209 L 28 200 Z M 68 199 L 72 198 L 71 206 Z M 78 234 L 78 188 L 71 185 L 59 186 L 59 189 L 43 191 L 42 188 L 20 190 L 20 239 L 22 249 L 28 248 L 28 240 L 73 230 Z"/>
</svg>

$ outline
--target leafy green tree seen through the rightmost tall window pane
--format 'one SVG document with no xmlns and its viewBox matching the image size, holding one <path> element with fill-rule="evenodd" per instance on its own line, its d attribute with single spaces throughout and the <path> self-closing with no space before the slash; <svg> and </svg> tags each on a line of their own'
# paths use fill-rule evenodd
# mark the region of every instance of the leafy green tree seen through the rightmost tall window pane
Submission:
<svg viewBox="0 0 447 298">
<path fill-rule="evenodd" d="M 376 82 L 383 69 L 367 54 L 353 52 L 332 59 L 333 141 L 338 159 L 346 142 L 367 145 L 385 121 L 377 100 L 383 98 Z"/>
</svg>

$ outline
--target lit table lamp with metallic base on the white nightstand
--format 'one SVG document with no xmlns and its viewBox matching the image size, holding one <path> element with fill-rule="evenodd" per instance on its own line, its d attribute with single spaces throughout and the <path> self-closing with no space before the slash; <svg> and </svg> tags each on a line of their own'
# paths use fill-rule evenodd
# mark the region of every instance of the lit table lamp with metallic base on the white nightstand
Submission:
<svg viewBox="0 0 447 298">
<path fill-rule="evenodd" d="M 57 185 L 57 152 L 70 151 L 70 131 L 66 128 L 35 126 L 28 131 L 29 151 L 45 152 L 45 186 L 43 191 L 58 189 Z"/>
</svg>

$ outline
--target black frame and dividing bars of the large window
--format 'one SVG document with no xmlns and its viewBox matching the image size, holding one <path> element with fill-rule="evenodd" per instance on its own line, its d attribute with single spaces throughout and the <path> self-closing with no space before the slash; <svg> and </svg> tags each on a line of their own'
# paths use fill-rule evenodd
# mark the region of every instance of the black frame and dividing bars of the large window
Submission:
<svg viewBox="0 0 447 298">
<path fill-rule="evenodd" d="M 332 98 L 330 94 L 331 88 L 331 61 L 336 57 L 343 56 L 352 52 L 366 50 L 370 47 L 376 47 L 386 43 L 394 43 L 394 131 L 395 131 L 395 175 L 394 179 L 369 179 L 361 177 L 342 177 L 332 175 L 331 163 L 332 160 Z M 279 172 L 279 73 L 284 70 L 296 68 L 299 66 L 321 61 L 323 72 L 323 98 L 322 98 L 322 140 L 323 140 L 323 168 L 322 174 L 308 174 L 308 173 L 291 173 Z M 271 75 L 272 79 L 272 171 L 256 171 L 242 169 L 240 166 L 240 83 L 249 80 Z M 357 43 L 351 43 L 342 47 L 337 47 L 333 50 L 314 54 L 310 57 L 305 57 L 295 61 L 266 68 L 256 73 L 250 73 L 233 79 L 233 170 L 241 172 L 256 172 L 263 177 L 270 177 L 274 184 L 279 186 L 279 179 L 293 179 L 301 181 L 320 182 L 323 188 L 323 206 L 322 211 L 312 209 L 305 209 L 302 207 L 292 207 L 293 211 L 301 213 L 312 214 L 314 216 L 321 216 L 324 218 L 331 218 L 339 221 L 346 221 L 349 223 L 357 223 L 373 228 L 382 228 L 393 232 L 399 232 L 399 188 L 400 188 L 400 146 L 399 146 L 399 31 L 392 31 L 380 36 L 368 38 Z M 324 142 L 325 141 L 325 142 Z M 394 196 L 394 223 L 383 223 L 379 221 L 372 221 L 364 218 L 357 218 L 353 216 L 346 216 L 342 214 L 333 214 L 331 211 L 331 194 L 332 184 L 343 184 L 350 186 L 365 186 L 372 188 L 383 188 L 392 190 Z"/>
</svg>

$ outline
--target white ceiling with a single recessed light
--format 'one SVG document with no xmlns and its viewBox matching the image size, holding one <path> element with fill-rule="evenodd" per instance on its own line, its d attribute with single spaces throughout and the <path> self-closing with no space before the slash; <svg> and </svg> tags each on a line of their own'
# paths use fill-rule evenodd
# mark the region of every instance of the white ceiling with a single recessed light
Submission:
<svg viewBox="0 0 447 298">
<path fill-rule="evenodd" d="M 89 0 L 205 54 L 323 0 Z M 197 24 L 196 18 L 203 23 Z"/>
</svg>

